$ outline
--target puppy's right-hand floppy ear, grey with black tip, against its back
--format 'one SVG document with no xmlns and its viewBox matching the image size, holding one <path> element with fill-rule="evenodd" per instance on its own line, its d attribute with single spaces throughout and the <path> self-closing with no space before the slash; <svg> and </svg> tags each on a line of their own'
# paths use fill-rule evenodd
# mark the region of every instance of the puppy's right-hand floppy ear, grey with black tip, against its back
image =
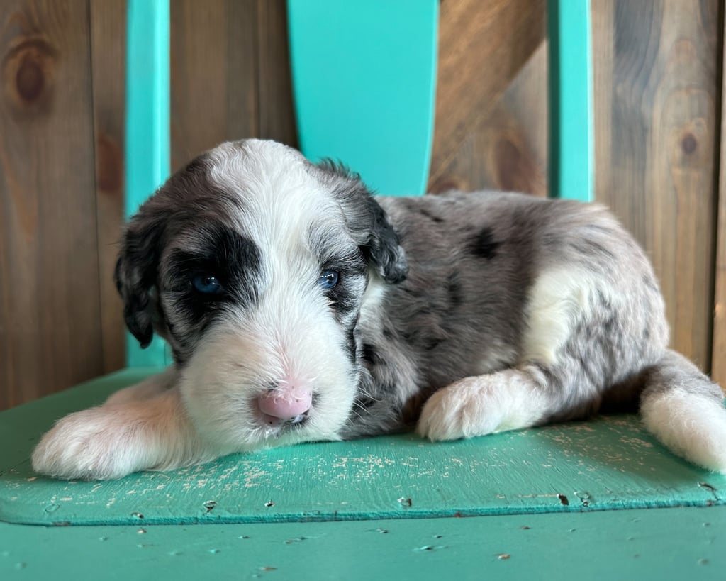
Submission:
<svg viewBox="0 0 726 581">
<path fill-rule="evenodd" d="M 398 232 L 360 176 L 330 160 L 324 160 L 315 167 L 322 171 L 332 187 L 343 208 L 348 228 L 378 274 L 388 283 L 405 280 L 408 262 Z"/>
</svg>

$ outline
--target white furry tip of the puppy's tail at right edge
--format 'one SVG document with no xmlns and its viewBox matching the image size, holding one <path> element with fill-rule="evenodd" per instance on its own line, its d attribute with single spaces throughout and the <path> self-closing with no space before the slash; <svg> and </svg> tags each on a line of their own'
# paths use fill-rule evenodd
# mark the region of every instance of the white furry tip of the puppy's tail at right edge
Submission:
<svg viewBox="0 0 726 581">
<path fill-rule="evenodd" d="M 726 409 L 713 399 L 672 389 L 650 395 L 640 408 L 643 423 L 673 452 L 726 474 Z"/>
</svg>

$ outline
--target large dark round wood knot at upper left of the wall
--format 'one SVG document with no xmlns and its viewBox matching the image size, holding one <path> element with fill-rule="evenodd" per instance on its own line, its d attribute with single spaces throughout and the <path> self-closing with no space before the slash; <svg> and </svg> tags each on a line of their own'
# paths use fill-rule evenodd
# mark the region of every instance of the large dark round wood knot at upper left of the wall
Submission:
<svg viewBox="0 0 726 581">
<path fill-rule="evenodd" d="M 43 38 L 24 38 L 3 62 L 5 94 L 13 108 L 23 113 L 46 111 L 52 96 L 56 51 Z"/>
</svg>

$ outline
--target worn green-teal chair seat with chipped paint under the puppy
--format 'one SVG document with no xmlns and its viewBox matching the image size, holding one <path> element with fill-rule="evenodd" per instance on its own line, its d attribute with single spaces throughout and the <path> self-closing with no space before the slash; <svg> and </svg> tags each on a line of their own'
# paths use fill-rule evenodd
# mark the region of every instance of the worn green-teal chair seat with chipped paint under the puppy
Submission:
<svg viewBox="0 0 726 581">
<path fill-rule="evenodd" d="M 33 474 L 55 419 L 155 371 L 0 413 L 0 576 L 468 579 L 491 564 L 513 578 L 718 579 L 726 566 L 726 477 L 674 457 L 632 415 L 461 442 L 300 444 L 113 482 Z"/>
</svg>

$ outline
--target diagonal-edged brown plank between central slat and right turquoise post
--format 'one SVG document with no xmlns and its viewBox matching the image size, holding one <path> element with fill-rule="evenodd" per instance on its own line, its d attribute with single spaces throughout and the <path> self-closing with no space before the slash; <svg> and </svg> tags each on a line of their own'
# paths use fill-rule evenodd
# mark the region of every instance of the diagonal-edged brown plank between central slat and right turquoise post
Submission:
<svg viewBox="0 0 726 581">
<path fill-rule="evenodd" d="M 542 44 L 544 0 L 444 0 L 431 182 Z"/>
</svg>

